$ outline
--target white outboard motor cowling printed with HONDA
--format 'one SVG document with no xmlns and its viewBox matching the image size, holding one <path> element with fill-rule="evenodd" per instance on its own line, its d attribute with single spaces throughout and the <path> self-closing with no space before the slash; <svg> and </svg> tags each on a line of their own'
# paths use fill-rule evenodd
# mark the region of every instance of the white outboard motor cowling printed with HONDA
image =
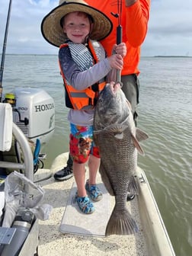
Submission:
<svg viewBox="0 0 192 256">
<path fill-rule="evenodd" d="M 41 146 L 53 136 L 55 104 L 53 98 L 40 88 L 15 88 L 13 121 L 28 139 Z"/>
</svg>

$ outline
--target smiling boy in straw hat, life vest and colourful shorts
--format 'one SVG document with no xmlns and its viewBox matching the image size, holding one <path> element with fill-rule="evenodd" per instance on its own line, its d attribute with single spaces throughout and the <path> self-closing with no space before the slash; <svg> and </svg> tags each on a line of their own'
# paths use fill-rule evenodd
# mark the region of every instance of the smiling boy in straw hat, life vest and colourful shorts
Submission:
<svg viewBox="0 0 192 256">
<path fill-rule="evenodd" d="M 125 43 L 114 45 L 117 53 L 106 57 L 103 46 L 96 41 L 107 37 L 111 28 L 106 15 L 82 0 L 60 0 L 59 6 L 42 22 L 43 37 L 59 46 L 66 107 L 70 109 L 69 149 L 77 184 L 75 199 L 85 214 L 94 212 L 91 200 L 102 199 L 102 192 L 96 185 L 100 156 L 93 141 L 94 106 L 106 82 L 117 81 L 116 71 L 123 68 L 123 56 L 126 55 Z M 87 162 L 89 178 L 85 184 Z"/>
</svg>

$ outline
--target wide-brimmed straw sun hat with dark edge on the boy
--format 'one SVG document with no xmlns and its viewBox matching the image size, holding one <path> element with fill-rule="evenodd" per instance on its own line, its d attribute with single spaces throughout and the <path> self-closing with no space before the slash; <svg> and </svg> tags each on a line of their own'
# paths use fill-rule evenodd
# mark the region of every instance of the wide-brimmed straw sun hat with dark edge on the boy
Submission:
<svg viewBox="0 0 192 256">
<path fill-rule="evenodd" d="M 83 11 L 91 15 L 94 27 L 89 36 L 92 40 L 101 40 L 110 34 L 113 25 L 104 13 L 87 5 L 83 0 L 59 0 L 59 6 L 50 11 L 41 23 L 41 33 L 48 43 L 59 47 L 65 42 L 66 34 L 63 33 L 60 21 L 72 11 Z"/>
</svg>

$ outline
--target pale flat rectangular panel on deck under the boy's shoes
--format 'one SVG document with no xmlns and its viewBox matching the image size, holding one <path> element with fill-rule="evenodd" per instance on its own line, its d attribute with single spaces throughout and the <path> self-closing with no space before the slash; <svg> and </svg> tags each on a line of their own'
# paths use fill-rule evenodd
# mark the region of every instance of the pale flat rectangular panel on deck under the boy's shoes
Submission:
<svg viewBox="0 0 192 256">
<path fill-rule="evenodd" d="M 103 198 L 99 202 L 94 202 L 95 211 L 92 214 L 82 213 L 75 202 L 77 187 L 75 182 L 69 194 L 69 200 L 59 231 L 75 235 L 105 236 L 105 229 L 110 217 L 110 195 L 107 193 L 103 183 L 97 184 L 103 193 Z"/>
</svg>

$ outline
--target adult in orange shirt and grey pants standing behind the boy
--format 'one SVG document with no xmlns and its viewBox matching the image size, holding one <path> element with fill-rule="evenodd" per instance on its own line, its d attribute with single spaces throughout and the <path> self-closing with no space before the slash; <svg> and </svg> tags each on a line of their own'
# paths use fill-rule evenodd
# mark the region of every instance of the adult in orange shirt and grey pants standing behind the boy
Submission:
<svg viewBox="0 0 192 256">
<path fill-rule="evenodd" d="M 104 12 L 113 23 L 113 30 L 101 40 L 101 44 L 110 55 L 114 43 L 116 43 L 117 26 L 123 28 L 122 41 L 126 43 L 127 53 L 123 59 L 123 70 L 121 72 L 121 82 L 123 83 L 123 92 L 130 101 L 133 110 L 133 118 L 137 120 L 137 104 L 139 104 L 139 59 L 142 43 L 146 38 L 149 10 L 151 0 L 85 0 L 88 5 Z M 122 5 L 121 5 L 122 3 Z M 115 15 L 118 14 L 119 18 Z M 65 181 L 72 178 L 72 159 L 67 162 L 67 166 L 56 171 L 54 178 L 56 181 Z M 134 197 L 127 197 L 132 200 Z"/>
</svg>

